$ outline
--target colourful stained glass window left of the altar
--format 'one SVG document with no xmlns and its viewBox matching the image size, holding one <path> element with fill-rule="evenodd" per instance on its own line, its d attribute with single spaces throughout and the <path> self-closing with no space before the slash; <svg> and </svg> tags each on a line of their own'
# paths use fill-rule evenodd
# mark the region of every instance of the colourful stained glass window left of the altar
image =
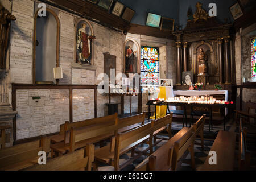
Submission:
<svg viewBox="0 0 256 182">
<path fill-rule="evenodd" d="M 141 47 L 141 85 L 159 85 L 159 51 L 154 47 Z"/>
</svg>

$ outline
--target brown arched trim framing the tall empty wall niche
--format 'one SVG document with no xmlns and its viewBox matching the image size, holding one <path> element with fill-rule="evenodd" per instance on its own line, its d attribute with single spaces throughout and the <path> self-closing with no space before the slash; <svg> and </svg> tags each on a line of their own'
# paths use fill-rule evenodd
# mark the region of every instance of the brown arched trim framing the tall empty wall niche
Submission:
<svg viewBox="0 0 256 182">
<path fill-rule="evenodd" d="M 40 9 L 36 10 L 36 13 L 34 15 L 34 36 L 33 36 L 33 60 L 32 60 L 32 81 L 33 84 L 36 83 L 36 23 L 37 23 L 37 18 L 38 18 L 38 12 Z M 51 13 L 53 17 L 56 20 L 57 23 L 57 38 L 56 38 L 56 67 L 60 67 L 60 19 L 56 15 L 56 13 L 46 7 L 46 11 L 48 13 Z M 57 84 L 59 84 L 59 81 L 57 80 Z"/>
</svg>

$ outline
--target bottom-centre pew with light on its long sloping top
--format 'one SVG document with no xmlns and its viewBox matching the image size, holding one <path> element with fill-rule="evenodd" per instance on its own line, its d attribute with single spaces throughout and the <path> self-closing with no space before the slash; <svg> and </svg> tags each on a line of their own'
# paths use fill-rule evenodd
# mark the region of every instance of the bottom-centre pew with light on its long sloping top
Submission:
<svg viewBox="0 0 256 182">
<path fill-rule="evenodd" d="M 135 171 L 168 171 L 171 168 L 174 143 L 190 129 L 184 127 L 174 137 L 139 164 Z"/>
</svg>

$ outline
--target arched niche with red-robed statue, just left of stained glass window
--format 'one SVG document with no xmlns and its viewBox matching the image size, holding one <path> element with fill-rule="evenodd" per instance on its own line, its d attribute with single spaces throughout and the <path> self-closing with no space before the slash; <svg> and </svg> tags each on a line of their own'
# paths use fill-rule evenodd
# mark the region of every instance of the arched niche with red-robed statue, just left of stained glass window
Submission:
<svg viewBox="0 0 256 182">
<path fill-rule="evenodd" d="M 138 44 L 129 40 L 125 44 L 125 73 L 138 73 Z"/>
</svg>

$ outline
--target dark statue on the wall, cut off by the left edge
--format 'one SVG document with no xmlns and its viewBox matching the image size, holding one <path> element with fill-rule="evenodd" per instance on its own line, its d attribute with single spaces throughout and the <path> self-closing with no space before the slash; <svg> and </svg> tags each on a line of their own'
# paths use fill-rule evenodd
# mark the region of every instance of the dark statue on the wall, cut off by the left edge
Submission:
<svg viewBox="0 0 256 182">
<path fill-rule="evenodd" d="M 11 27 L 11 21 L 15 21 L 15 16 L 6 10 L 0 4 L 0 68 L 5 69 L 5 56 L 9 41 L 9 31 Z"/>
</svg>

